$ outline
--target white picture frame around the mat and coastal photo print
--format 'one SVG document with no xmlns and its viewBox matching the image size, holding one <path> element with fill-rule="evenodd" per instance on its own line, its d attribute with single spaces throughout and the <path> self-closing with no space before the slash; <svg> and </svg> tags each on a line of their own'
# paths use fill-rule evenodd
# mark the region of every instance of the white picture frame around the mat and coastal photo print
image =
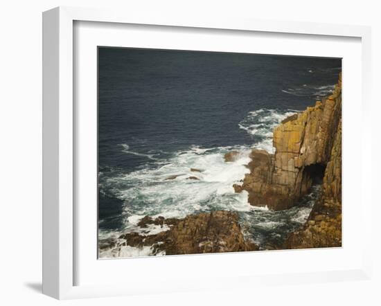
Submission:
<svg viewBox="0 0 381 306">
<path fill-rule="evenodd" d="M 371 112 L 370 75 L 371 75 L 371 29 L 366 26 L 343 26 L 333 24 L 297 23 L 291 21 L 260 21 L 240 19 L 236 17 L 187 17 L 173 15 L 147 15 L 144 12 L 118 12 L 87 8 L 60 7 L 44 12 L 43 15 L 43 293 L 59 299 L 86 298 L 96 296 L 116 296 L 128 294 L 145 294 L 150 292 L 188 291 L 197 289 L 216 289 L 256 285 L 276 285 L 283 283 L 325 282 L 338 280 L 369 279 L 371 276 L 371 235 L 365 235 L 360 267 L 351 269 L 330 269 L 319 272 L 268 273 L 260 277 L 255 274 L 227 277 L 218 276 L 216 282 L 195 282 L 184 280 L 176 275 L 163 276 L 163 283 L 142 287 L 140 282 L 132 286 L 123 283 L 105 283 L 97 285 L 78 285 L 76 281 L 76 240 L 75 199 L 75 169 L 78 167 L 75 158 L 78 137 L 74 120 L 75 82 L 73 55 L 74 39 L 73 25 L 75 22 L 104 22 L 112 24 L 151 25 L 157 27 L 197 28 L 198 30 L 235 30 L 242 32 L 317 35 L 325 37 L 356 37 L 361 39 L 361 105 L 356 105 L 362 111 L 361 178 L 371 177 L 370 159 L 365 152 L 370 152 L 371 134 L 366 129 Z M 345 120 L 345 119 L 344 119 Z M 345 153 L 344 153 L 345 154 Z M 360 173 L 359 172 L 359 173 Z M 364 219 L 371 219 L 371 184 L 362 183 L 361 213 Z M 370 233 L 371 224 L 362 222 L 362 231 Z M 345 246 L 344 246 L 345 247 Z M 293 251 L 287 251 L 289 257 Z M 291 253 L 290 253 L 291 252 Z M 245 255 L 245 260 L 251 253 Z M 270 253 L 269 253 L 270 254 Z M 271 254 L 274 254 L 272 252 Z M 212 255 L 213 256 L 213 255 Z M 227 254 L 218 256 L 240 256 Z M 175 257 L 176 258 L 176 257 Z M 177 257 L 177 264 L 190 266 L 207 262 L 208 257 L 187 256 Z M 140 262 L 147 260 L 138 259 Z M 193 263 L 192 263 L 193 262 Z M 173 263 L 172 264 L 176 264 Z M 175 266 L 174 266 L 175 267 Z M 181 280 L 181 282 L 179 282 Z M 163 287 L 163 284 L 166 286 Z"/>
</svg>

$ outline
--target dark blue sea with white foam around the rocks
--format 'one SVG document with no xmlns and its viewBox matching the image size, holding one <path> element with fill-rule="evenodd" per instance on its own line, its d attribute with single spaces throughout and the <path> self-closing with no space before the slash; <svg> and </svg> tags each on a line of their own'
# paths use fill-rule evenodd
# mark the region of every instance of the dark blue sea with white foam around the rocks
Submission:
<svg viewBox="0 0 381 306">
<path fill-rule="evenodd" d="M 100 243 L 129 231 L 168 230 L 139 228 L 145 215 L 234 210 L 246 239 L 261 249 L 280 245 L 305 222 L 320 186 L 298 206 L 272 212 L 250 206 L 233 183 L 249 172 L 252 147 L 273 152 L 272 130 L 283 118 L 333 91 L 341 66 L 331 58 L 99 48 Z M 231 150 L 240 157 L 226 163 Z M 100 252 L 136 255 L 150 248 Z"/>
</svg>

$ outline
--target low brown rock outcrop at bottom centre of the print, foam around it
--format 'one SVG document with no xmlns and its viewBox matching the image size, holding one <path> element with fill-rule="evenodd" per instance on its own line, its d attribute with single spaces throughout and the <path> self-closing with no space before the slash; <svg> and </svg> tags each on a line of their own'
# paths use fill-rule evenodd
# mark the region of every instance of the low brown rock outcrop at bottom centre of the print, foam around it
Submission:
<svg viewBox="0 0 381 306">
<path fill-rule="evenodd" d="M 236 212 L 218 210 L 188 215 L 184 219 L 144 217 L 139 226 L 168 226 L 155 235 L 126 233 L 119 237 L 125 246 L 151 246 L 152 253 L 166 255 L 256 251 L 258 246 L 245 241 Z"/>
</svg>

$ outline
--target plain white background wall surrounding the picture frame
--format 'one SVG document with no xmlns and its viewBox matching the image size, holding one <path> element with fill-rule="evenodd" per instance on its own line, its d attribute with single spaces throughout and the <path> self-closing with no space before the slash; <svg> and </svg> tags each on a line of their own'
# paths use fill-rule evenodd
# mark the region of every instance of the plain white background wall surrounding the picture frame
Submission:
<svg viewBox="0 0 381 306">
<path fill-rule="evenodd" d="M 13 0 L 0 6 L 0 304 L 1 305 L 380 305 L 380 208 L 374 197 L 371 281 L 263 287 L 251 291 L 199 292 L 58 302 L 41 294 L 42 248 L 42 11 L 55 6 L 121 10 L 184 10 L 189 15 L 235 15 L 373 28 L 373 133 L 380 131 L 381 9 L 378 1 L 131 1 Z M 353 105 L 356 107 L 356 105 Z M 360 125 L 360 123 L 359 123 Z M 360 127 L 359 127 L 360 128 Z M 377 147 L 376 147 L 377 145 Z M 380 181 L 373 141 L 374 192 Z M 353 150 L 356 150 L 353 147 Z M 355 165 L 355 161 L 353 162 Z M 359 242 L 359 248 L 361 248 Z M 126 276 L 127 277 L 127 276 Z"/>
</svg>

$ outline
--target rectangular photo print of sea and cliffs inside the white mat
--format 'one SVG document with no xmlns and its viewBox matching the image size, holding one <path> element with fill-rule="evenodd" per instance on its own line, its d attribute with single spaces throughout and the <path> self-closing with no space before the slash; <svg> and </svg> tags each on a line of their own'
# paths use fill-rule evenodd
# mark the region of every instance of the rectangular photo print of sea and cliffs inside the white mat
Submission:
<svg viewBox="0 0 381 306">
<path fill-rule="evenodd" d="M 342 59 L 98 47 L 98 258 L 342 246 Z"/>
</svg>

